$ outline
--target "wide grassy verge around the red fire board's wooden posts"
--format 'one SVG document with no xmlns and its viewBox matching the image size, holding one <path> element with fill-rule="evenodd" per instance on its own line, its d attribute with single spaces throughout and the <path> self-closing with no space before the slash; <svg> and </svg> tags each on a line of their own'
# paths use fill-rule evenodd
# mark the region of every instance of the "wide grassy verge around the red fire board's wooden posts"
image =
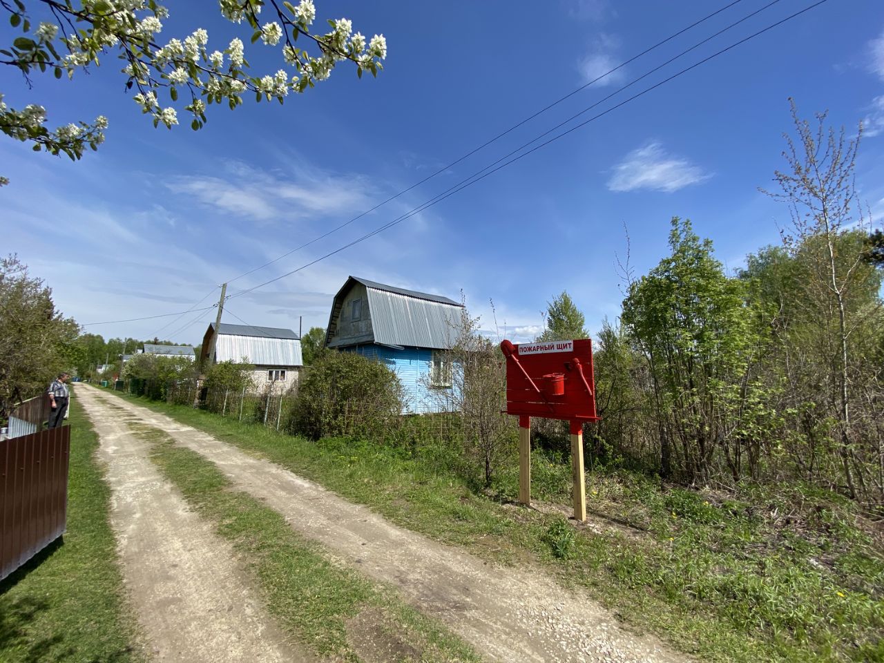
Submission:
<svg viewBox="0 0 884 663">
<path fill-rule="evenodd" d="M 545 513 L 515 507 L 518 467 L 477 490 L 456 449 L 311 442 L 135 399 L 504 564 L 539 564 L 639 629 L 714 661 L 884 661 L 884 554 L 856 508 L 806 486 L 697 492 L 624 470 L 587 475 L 591 527 L 573 529 L 567 459 L 532 454 Z M 573 535 L 573 536 L 572 536 Z"/>
</svg>

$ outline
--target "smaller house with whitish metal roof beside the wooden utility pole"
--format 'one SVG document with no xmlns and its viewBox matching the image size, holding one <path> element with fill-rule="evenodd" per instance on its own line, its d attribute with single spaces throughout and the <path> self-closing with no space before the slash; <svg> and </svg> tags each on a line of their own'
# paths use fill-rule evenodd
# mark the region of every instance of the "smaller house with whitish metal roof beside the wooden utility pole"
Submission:
<svg viewBox="0 0 884 663">
<path fill-rule="evenodd" d="M 202 337 L 203 366 L 216 362 L 248 362 L 255 366 L 252 383 L 257 391 L 270 387 L 274 392 L 286 392 L 298 384 L 304 362 L 301 359 L 301 339 L 290 329 L 255 327 L 249 324 L 218 325 L 215 354 L 209 356 L 215 323 L 209 325 Z"/>
</svg>

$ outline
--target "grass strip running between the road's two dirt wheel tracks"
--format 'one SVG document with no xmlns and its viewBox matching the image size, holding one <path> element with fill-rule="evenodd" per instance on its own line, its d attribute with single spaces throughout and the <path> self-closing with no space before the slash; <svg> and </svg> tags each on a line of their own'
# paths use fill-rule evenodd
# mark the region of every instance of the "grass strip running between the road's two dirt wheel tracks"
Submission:
<svg viewBox="0 0 884 663">
<path fill-rule="evenodd" d="M 437 622 L 358 572 L 329 560 L 286 519 L 231 482 L 199 453 L 175 446 L 164 431 L 130 423 L 151 444 L 151 460 L 232 542 L 257 578 L 280 626 L 322 656 L 358 661 L 366 647 L 390 661 L 478 661 Z"/>
</svg>

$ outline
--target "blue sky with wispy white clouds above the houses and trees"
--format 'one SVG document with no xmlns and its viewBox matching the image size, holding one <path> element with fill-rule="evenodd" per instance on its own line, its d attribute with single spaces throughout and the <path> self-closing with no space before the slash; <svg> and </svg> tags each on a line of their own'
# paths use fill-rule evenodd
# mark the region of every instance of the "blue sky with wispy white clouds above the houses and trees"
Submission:
<svg viewBox="0 0 884 663">
<path fill-rule="evenodd" d="M 228 294 L 412 210 L 768 2 L 735 4 L 421 187 L 233 281 Z M 3 253 L 18 253 L 46 278 L 57 307 L 80 324 L 184 311 L 204 296 L 205 306 L 217 301 L 222 281 L 410 187 L 728 0 L 316 4 L 320 19 L 345 16 L 363 34 L 385 34 L 385 71 L 358 80 L 339 65 L 284 106 L 210 107 L 200 132 L 154 129 L 111 56 L 73 81 L 36 77 L 33 89 L 10 67 L 0 71 L 4 101 L 41 103 L 50 124 L 99 114 L 110 121 L 105 144 L 77 163 L 0 140 L 0 174 L 11 179 L 0 189 Z M 583 118 L 809 4 L 773 4 Z M 248 32 L 222 19 L 210 0 L 168 6 L 163 39 L 205 27 L 210 50 L 236 34 L 248 43 Z M 0 38 L 9 42 L 4 26 Z M 261 43 L 247 57 L 261 73 L 282 62 Z M 829 110 L 830 121 L 851 132 L 865 119 L 857 183 L 877 222 L 884 213 L 884 4 L 828 0 L 370 240 L 233 297 L 224 319 L 297 331 L 303 316 L 305 331 L 325 326 L 333 294 L 353 274 L 454 299 L 463 291 L 484 329 L 516 341 L 532 338 L 546 302 L 567 290 L 595 334 L 603 317 L 620 311 L 616 263 L 626 257 L 627 232 L 636 275 L 666 255 L 672 216 L 689 217 L 730 269 L 778 240 L 788 210 L 758 187 L 770 186 L 783 165 L 789 96 L 803 116 Z M 87 331 L 197 343 L 214 315 Z"/>
</svg>

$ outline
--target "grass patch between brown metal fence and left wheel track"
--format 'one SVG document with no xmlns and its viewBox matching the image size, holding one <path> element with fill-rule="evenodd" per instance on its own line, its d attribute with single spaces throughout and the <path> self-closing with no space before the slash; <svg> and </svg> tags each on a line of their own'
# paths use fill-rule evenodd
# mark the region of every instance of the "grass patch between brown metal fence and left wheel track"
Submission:
<svg viewBox="0 0 884 663">
<path fill-rule="evenodd" d="M 0 660 L 144 660 L 126 606 L 110 529 L 110 488 L 95 461 L 98 438 L 74 400 L 67 532 L 0 583 Z"/>
</svg>

